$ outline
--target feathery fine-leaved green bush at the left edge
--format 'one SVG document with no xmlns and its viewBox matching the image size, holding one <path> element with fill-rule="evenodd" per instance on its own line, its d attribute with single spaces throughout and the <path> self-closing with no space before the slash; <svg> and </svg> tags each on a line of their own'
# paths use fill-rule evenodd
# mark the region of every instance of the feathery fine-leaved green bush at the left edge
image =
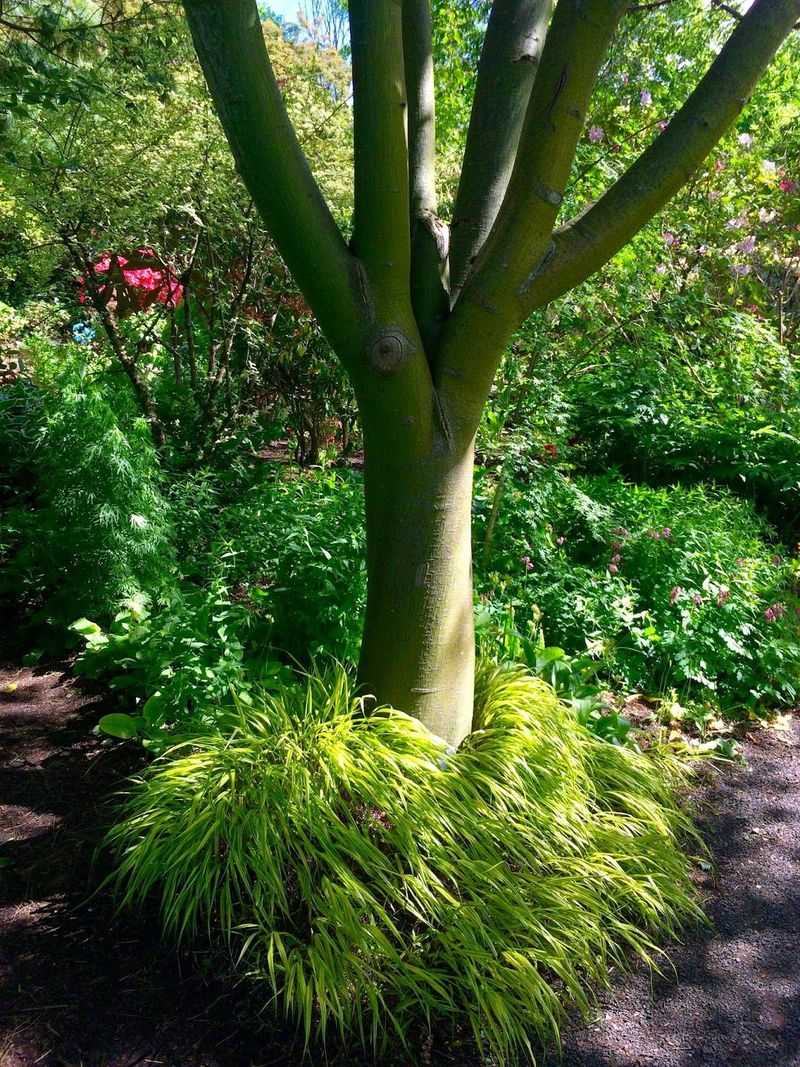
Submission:
<svg viewBox="0 0 800 1067">
<path fill-rule="evenodd" d="M 58 387 L 20 388 L 3 449 L 27 456 L 31 481 L 0 517 L 0 595 L 28 604 L 38 622 L 108 619 L 174 570 L 147 430 L 124 426 L 102 385 L 69 362 Z"/>
</svg>

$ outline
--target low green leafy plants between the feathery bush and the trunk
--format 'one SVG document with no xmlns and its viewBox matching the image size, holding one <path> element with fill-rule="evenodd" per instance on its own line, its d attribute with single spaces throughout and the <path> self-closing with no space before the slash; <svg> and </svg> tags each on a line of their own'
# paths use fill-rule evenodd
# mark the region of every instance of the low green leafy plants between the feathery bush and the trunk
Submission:
<svg viewBox="0 0 800 1067">
<path fill-rule="evenodd" d="M 276 649 L 303 662 L 358 655 L 366 602 L 364 499 L 353 472 L 261 467 L 229 495 L 199 474 L 174 493 L 183 553 L 268 610 Z"/>
</svg>

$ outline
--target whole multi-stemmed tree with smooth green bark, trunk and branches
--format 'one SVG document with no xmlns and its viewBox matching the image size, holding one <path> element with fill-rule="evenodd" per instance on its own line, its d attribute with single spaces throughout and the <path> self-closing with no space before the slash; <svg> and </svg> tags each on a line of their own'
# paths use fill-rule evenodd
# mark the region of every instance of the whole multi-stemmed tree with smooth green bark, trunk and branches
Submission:
<svg viewBox="0 0 800 1067">
<path fill-rule="evenodd" d="M 736 13 L 667 127 L 558 226 L 598 73 L 636 9 L 495 0 L 449 242 L 436 202 L 430 0 L 351 0 L 349 244 L 287 116 L 255 0 L 183 6 L 241 176 L 357 397 L 369 577 L 361 681 L 458 744 L 473 716 L 474 439 L 505 347 L 689 180 L 791 31 L 800 0 Z"/>
</svg>

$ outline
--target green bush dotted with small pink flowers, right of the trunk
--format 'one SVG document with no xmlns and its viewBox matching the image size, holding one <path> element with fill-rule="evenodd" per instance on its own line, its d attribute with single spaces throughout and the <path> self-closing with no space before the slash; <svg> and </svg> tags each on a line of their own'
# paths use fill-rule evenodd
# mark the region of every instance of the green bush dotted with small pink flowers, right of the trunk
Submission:
<svg viewBox="0 0 800 1067">
<path fill-rule="evenodd" d="M 491 499 L 479 495 L 477 528 Z M 652 489 L 558 472 L 507 487 L 480 585 L 525 630 L 589 652 L 627 691 L 791 703 L 800 667 L 797 563 L 721 490 Z M 506 577 L 500 577 L 505 575 Z"/>
</svg>

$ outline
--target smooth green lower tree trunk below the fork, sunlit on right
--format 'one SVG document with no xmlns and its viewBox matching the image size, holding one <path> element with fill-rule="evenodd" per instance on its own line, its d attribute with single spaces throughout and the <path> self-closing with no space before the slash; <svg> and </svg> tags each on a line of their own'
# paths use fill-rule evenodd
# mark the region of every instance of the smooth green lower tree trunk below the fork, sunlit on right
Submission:
<svg viewBox="0 0 800 1067">
<path fill-rule="evenodd" d="M 368 442 L 369 590 L 361 682 L 451 745 L 470 731 L 475 686 L 473 444 L 409 464 Z"/>
</svg>

